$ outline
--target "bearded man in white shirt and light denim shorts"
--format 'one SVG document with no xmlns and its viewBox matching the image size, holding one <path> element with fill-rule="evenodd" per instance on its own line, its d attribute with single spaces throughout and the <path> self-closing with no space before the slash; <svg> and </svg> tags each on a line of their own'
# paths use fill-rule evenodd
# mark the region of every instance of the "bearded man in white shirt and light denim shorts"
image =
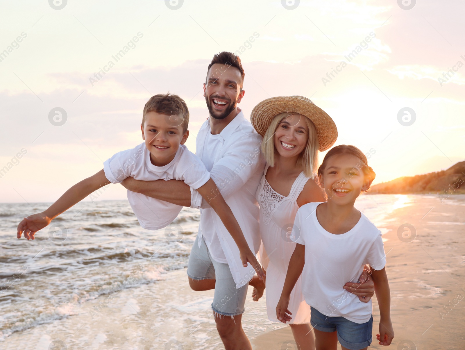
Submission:
<svg viewBox="0 0 465 350">
<path fill-rule="evenodd" d="M 260 154 L 261 136 L 237 107 L 245 94 L 244 75 L 238 56 L 222 52 L 213 57 L 204 83 L 210 115 L 199 130 L 196 153 L 233 211 L 250 249 L 257 253 L 259 206 L 255 193 L 265 162 Z M 242 330 L 241 318 L 254 269 L 242 266 L 232 237 L 197 191 L 182 181 L 169 180 L 169 185 L 161 181 L 138 182 L 128 178 L 123 185 L 166 202 L 201 208 L 199 234 L 187 268 L 189 285 L 193 290 L 215 289 L 213 315 L 225 348 L 252 349 Z M 256 278 L 250 284 L 260 290 L 265 287 Z"/>
</svg>

